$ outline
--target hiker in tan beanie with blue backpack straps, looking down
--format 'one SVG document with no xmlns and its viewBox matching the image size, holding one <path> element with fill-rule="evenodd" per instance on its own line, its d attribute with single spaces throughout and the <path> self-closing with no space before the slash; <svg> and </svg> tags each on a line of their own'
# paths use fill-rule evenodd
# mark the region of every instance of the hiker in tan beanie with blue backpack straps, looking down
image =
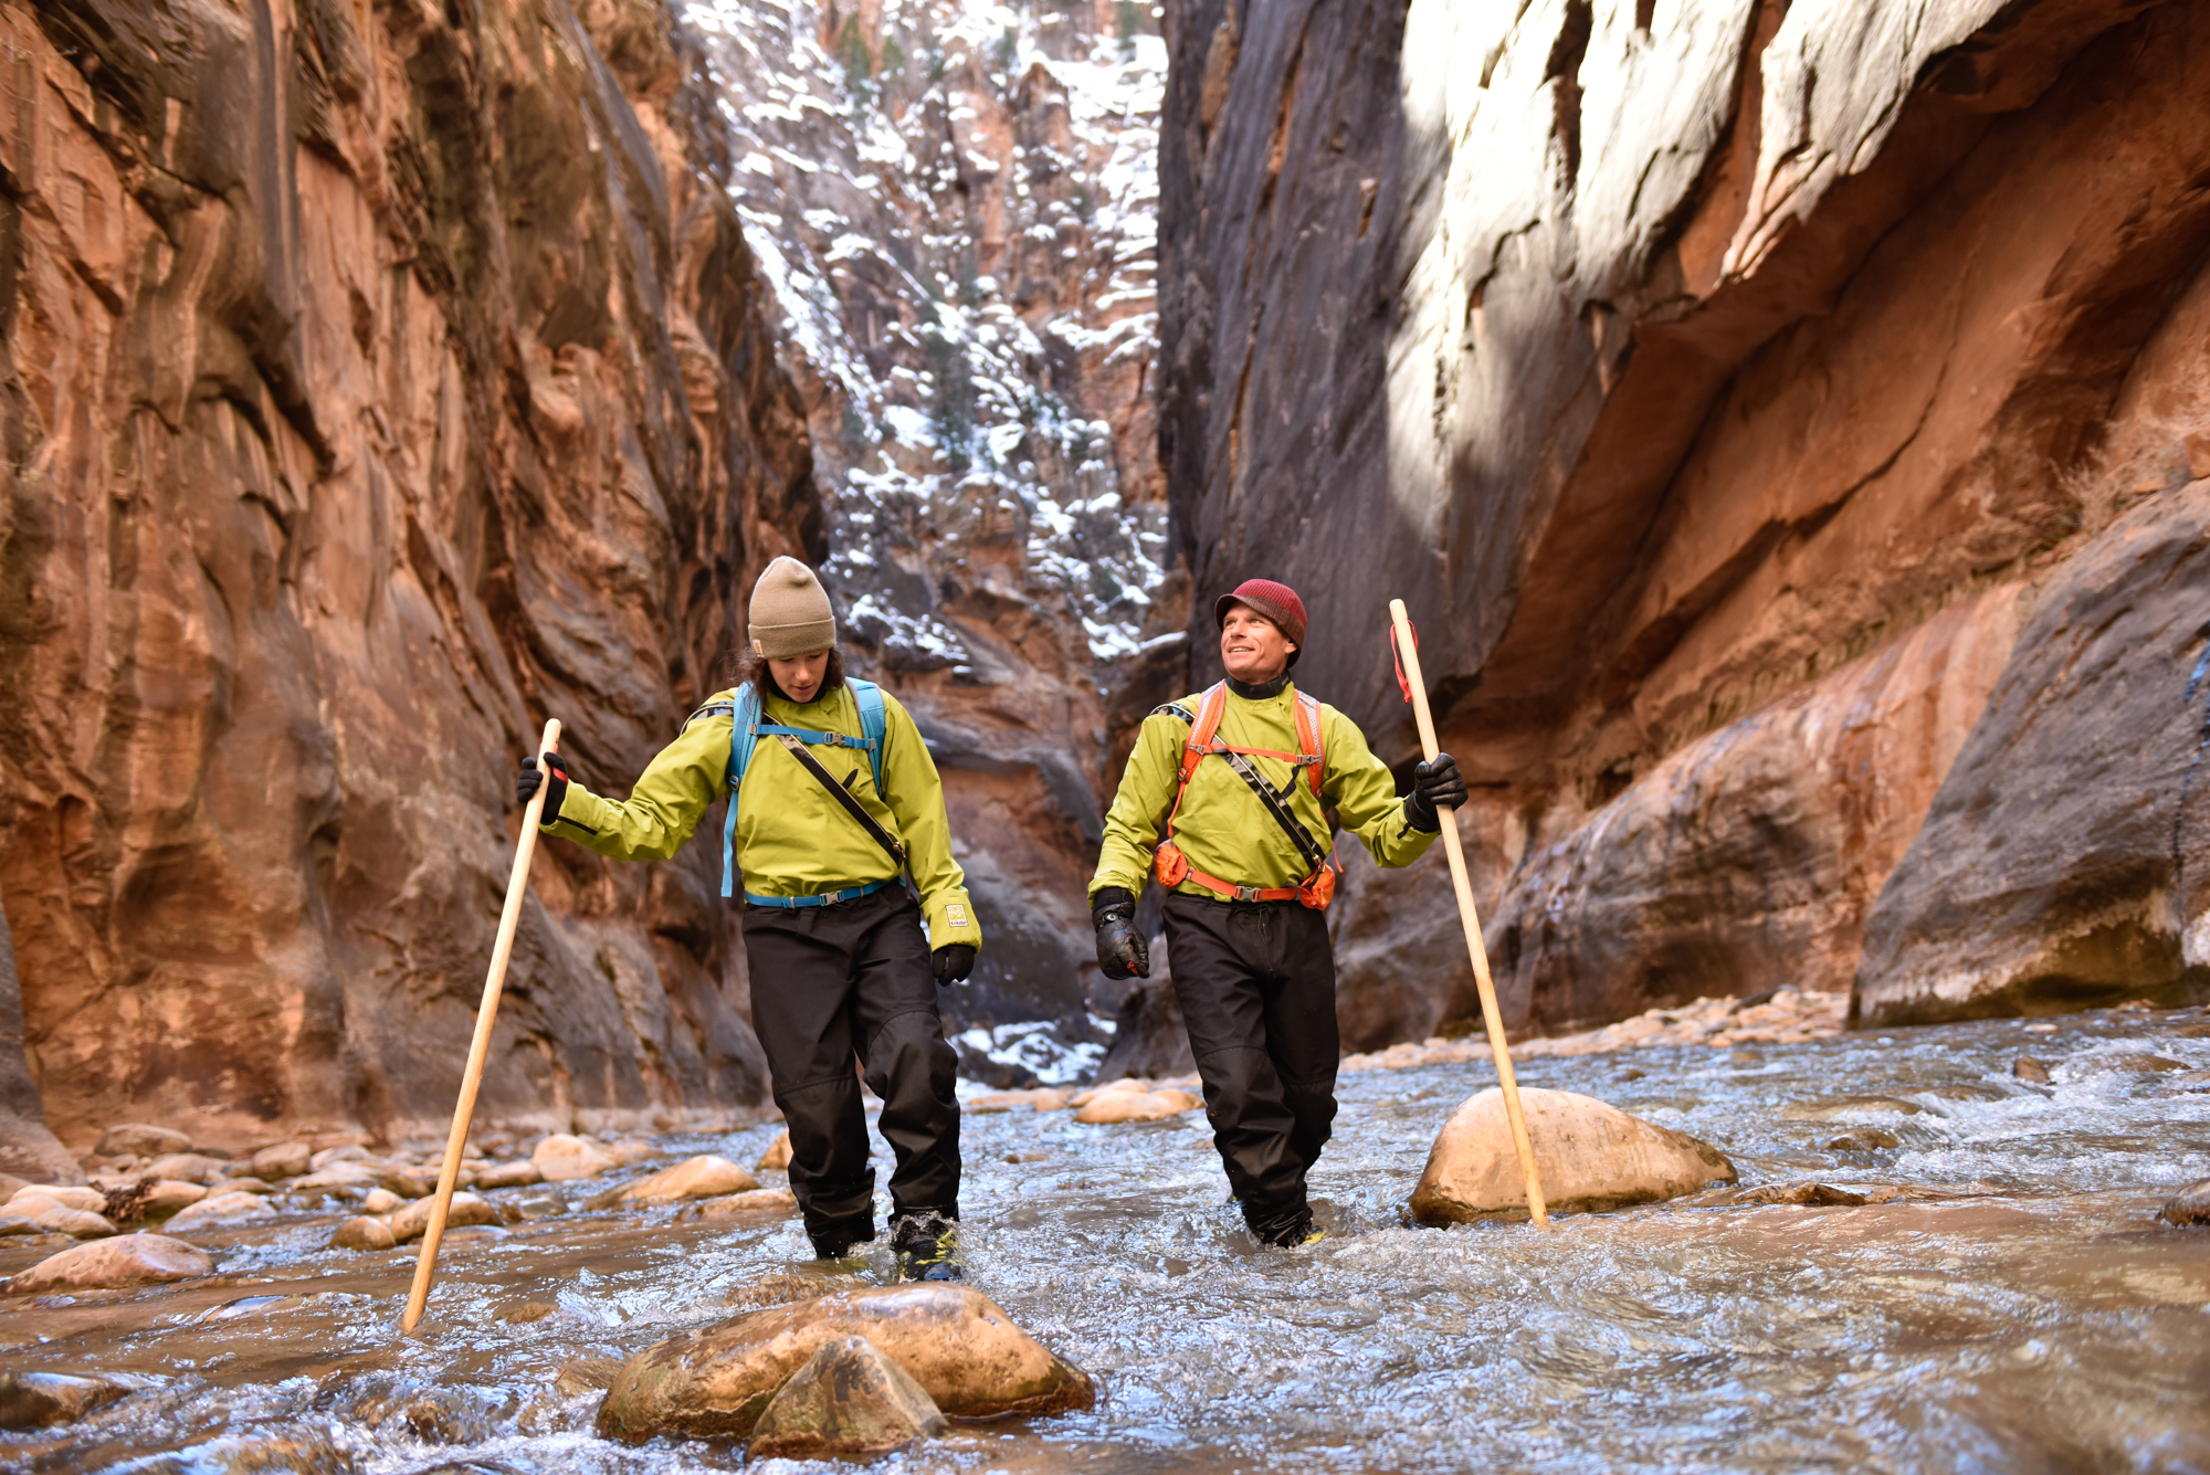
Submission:
<svg viewBox="0 0 2210 1475">
<path fill-rule="evenodd" d="M 981 927 L 953 859 L 944 786 L 897 698 L 844 678 L 813 570 L 796 559 L 767 565 L 749 636 L 745 682 L 692 713 L 628 799 L 601 799 L 548 757 L 544 830 L 617 861 L 665 861 L 738 790 L 723 894 L 734 863 L 745 877 L 751 1022 L 791 1128 L 791 1192 L 813 1252 L 844 1259 L 875 1239 L 857 1058 L 897 1157 L 899 1272 L 953 1281 L 957 1055 L 937 985 L 968 976 Z M 515 795 L 528 802 L 541 779 L 537 760 L 522 760 Z M 899 872 L 911 872 L 919 905 Z"/>
</svg>

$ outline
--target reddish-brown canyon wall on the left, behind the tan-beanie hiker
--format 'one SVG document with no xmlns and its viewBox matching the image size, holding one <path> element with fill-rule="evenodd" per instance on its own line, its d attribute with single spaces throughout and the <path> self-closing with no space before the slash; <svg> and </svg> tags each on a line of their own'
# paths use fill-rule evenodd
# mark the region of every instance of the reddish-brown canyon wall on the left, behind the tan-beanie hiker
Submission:
<svg viewBox="0 0 2210 1475">
<path fill-rule="evenodd" d="M 559 715 L 621 793 L 827 554 L 672 35 L 0 4 L 0 896 L 73 1148 L 440 1131 L 517 755 Z M 480 1117 L 758 1108 L 716 868 L 539 848 Z"/>
</svg>

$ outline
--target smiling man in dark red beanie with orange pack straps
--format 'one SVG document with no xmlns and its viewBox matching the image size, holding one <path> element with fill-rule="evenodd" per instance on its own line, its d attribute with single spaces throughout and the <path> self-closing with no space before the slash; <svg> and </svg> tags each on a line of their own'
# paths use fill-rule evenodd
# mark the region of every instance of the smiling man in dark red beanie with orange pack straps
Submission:
<svg viewBox="0 0 2210 1475">
<path fill-rule="evenodd" d="M 1397 797 L 1364 733 L 1297 691 L 1304 601 L 1251 579 L 1213 605 L 1227 682 L 1143 722 L 1090 881 L 1098 967 L 1149 976 L 1145 879 L 1165 896 L 1174 994 L 1204 1078 L 1213 1146 L 1244 1223 L 1269 1245 L 1319 1234 L 1306 1172 L 1335 1119 L 1335 890 L 1328 810 L 1383 866 L 1410 866 L 1465 802 L 1448 753 Z"/>
</svg>

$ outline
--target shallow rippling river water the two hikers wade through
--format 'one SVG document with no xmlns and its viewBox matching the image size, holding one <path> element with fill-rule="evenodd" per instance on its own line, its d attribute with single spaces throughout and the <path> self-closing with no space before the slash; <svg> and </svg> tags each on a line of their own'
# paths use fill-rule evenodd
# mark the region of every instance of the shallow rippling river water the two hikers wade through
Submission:
<svg viewBox="0 0 2210 1475">
<path fill-rule="evenodd" d="M 2155 1219 L 2210 1177 L 2210 1014 L 2053 1025 L 1523 1069 L 1719 1144 L 1748 1186 L 1923 1190 L 1859 1208 L 1412 1228 L 1399 1208 L 1428 1144 L 1492 1075 L 1366 1071 L 1344 1078 L 1315 1172 L 1330 1237 L 1262 1252 L 1224 1206 L 1202 1113 L 970 1115 L 970 1278 L 1103 1398 L 959 1424 L 880 1466 L 2210 1471 L 2210 1230 Z M 2013 1080 L 2018 1055 L 2053 1082 Z M 1828 1146 L 1874 1126 L 1896 1146 Z M 771 1135 L 661 1146 L 749 1164 Z M 214 1283 L 0 1301 L 0 1369 L 146 1378 L 73 1426 L 0 1435 L 0 1466 L 734 1468 L 743 1449 L 594 1437 L 601 1389 L 621 1358 L 807 1265 L 796 1221 L 462 1230 L 422 1334 L 400 1338 L 411 1250 L 327 1250 L 334 1223 L 194 1237 Z M 0 1248 L 0 1272 L 33 1259 Z M 862 1278 L 888 1278 L 888 1256 Z"/>
</svg>

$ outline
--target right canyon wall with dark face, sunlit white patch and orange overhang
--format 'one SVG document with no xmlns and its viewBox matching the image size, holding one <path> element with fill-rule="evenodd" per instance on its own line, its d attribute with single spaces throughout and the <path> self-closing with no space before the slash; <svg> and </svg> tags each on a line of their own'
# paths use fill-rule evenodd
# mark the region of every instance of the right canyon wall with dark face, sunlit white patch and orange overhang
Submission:
<svg viewBox="0 0 2210 1475">
<path fill-rule="evenodd" d="M 1410 603 L 1514 1029 L 2203 989 L 2210 11 L 1171 0 L 1167 40 L 1196 609 L 1297 585 L 1299 676 L 1410 760 Z M 1441 868 L 1346 892 L 1346 1042 L 1467 1020 L 1406 943 Z"/>
</svg>

